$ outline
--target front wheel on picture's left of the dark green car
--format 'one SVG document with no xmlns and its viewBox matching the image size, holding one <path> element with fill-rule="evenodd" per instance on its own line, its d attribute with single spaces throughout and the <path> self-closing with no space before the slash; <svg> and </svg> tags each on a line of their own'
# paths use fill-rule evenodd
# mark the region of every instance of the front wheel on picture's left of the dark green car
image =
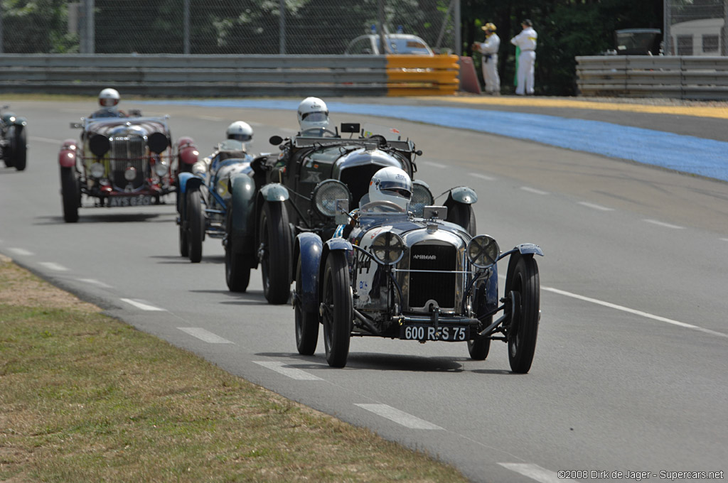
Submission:
<svg viewBox="0 0 728 483">
<path fill-rule="evenodd" d="M 282 203 L 266 203 L 261 213 L 261 260 L 263 292 L 269 303 L 287 303 L 290 295 L 290 228 Z"/>
</svg>

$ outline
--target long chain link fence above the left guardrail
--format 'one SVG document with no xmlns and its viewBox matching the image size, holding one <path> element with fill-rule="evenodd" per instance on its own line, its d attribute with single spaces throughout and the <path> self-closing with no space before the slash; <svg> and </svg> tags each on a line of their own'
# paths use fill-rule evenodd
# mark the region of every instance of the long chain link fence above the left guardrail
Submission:
<svg viewBox="0 0 728 483">
<path fill-rule="evenodd" d="M 397 31 L 459 53 L 459 0 L 0 0 L 0 52 L 344 54 Z"/>
</svg>

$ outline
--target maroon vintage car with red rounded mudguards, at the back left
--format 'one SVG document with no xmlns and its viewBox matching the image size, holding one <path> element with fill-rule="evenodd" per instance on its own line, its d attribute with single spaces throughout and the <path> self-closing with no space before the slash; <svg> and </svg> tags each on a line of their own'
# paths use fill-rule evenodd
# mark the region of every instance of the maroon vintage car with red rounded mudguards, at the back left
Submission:
<svg viewBox="0 0 728 483">
<path fill-rule="evenodd" d="M 79 220 L 83 196 L 95 207 L 138 207 L 165 202 L 182 166 L 197 161 L 191 139 L 173 148 L 167 116 L 82 119 L 81 139 L 58 153 L 63 219 Z"/>
</svg>

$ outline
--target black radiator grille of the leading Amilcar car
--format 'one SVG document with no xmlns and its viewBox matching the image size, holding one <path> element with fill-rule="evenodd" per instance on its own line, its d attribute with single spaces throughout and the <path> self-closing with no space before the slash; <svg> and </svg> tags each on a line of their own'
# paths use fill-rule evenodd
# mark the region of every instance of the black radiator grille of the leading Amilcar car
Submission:
<svg viewBox="0 0 728 483">
<path fill-rule="evenodd" d="M 410 249 L 410 270 L 456 270 L 456 247 L 452 245 L 416 244 Z M 441 308 L 455 307 L 455 274 L 409 274 L 409 306 L 424 307 L 427 300 L 435 300 Z"/>
</svg>

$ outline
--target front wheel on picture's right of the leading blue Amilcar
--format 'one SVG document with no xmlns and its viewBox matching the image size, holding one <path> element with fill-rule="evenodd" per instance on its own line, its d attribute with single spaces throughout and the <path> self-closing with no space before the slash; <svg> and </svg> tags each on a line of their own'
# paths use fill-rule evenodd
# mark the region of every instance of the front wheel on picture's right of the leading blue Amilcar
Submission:
<svg viewBox="0 0 728 483">
<path fill-rule="evenodd" d="M 539 330 L 539 268 L 533 257 L 521 257 L 510 284 L 513 300 L 508 331 L 508 362 L 513 372 L 531 369 Z"/>
</svg>

